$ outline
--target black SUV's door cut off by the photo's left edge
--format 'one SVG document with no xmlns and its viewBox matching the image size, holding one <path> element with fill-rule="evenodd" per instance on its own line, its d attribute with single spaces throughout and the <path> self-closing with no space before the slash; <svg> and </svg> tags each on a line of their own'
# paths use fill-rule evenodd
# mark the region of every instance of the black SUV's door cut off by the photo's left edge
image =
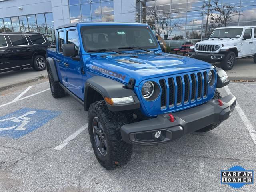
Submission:
<svg viewBox="0 0 256 192">
<path fill-rule="evenodd" d="M 0 72 L 11 70 L 12 62 L 12 47 L 7 43 L 6 37 L 0 35 Z"/>
</svg>

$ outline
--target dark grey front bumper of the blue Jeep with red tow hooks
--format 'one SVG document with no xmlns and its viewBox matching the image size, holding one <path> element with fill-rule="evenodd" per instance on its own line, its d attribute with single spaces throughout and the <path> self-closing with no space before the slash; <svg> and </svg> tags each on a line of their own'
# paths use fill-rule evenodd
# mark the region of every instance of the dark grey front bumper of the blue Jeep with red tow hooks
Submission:
<svg viewBox="0 0 256 192">
<path fill-rule="evenodd" d="M 130 144 L 155 145 L 170 142 L 184 134 L 194 132 L 211 124 L 217 124 L 229 118 L 236 105 L 236 97 L 232 94 L 221 99 L 173 113 L 174 122 L 169 114 L 158 115 L 156 118 L 126 124 L 121 127 L 122 140 Z M 154 138 L 161 131 L 162 136 Z"/>
</svg>

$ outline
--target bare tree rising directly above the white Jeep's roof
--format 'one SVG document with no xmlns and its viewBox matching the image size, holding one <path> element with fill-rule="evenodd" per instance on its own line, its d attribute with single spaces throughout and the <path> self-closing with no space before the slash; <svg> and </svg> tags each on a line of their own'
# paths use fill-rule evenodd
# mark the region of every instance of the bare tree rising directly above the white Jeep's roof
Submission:
<svg viewBox="0 0 256 192">
<path fill-rule="evenodd" d="M 232 18 L 239 16 L 239 9 L 234 5 L 219 4 L 220 0 L 208 0 L 201 6 L 202 9 L 208 8 L 207 24 L 215 24 L 217 27 L 228 26 Z"/>
</svg>

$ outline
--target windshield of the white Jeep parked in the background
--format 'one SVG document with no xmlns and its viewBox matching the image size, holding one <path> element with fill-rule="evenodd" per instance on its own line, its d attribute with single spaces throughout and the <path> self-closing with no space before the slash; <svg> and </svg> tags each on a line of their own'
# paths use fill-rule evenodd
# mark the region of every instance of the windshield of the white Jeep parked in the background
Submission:
<svg viewBox="0 0 256 192">
<path fill-rule="evenodd" d="M 211 38 L 239 38 L 242 35 L 243 28 L 216 29 Z"/>
</svg>

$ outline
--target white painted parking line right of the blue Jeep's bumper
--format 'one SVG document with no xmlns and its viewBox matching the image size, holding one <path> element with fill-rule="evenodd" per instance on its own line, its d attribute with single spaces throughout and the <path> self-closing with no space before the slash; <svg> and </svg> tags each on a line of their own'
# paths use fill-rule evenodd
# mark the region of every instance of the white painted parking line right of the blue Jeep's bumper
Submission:
<svg viewBox="0 0 256 192">
<path fill-rule="evenodd" d="M 232 94 L 230 89 L 228 88 L 228 86 L 225 86 L 224 88 L 225 88 L 227 94 Z M 240 105 L 238 104 L 237 101 L 236 101 L 236 111 L 238 112 L 240 118 L 242 119 L 242 122 L 248 129 L 249 134 L 250 134 L 254 144 L 256 145 L 256 130 L 255 130 L 254 126 L 252 126 L 252 123 L 247 118 L 246 114 L 244 113 L 244 111 L 242 110 L 242 108 L 240 107 Z"/>
</svg>

